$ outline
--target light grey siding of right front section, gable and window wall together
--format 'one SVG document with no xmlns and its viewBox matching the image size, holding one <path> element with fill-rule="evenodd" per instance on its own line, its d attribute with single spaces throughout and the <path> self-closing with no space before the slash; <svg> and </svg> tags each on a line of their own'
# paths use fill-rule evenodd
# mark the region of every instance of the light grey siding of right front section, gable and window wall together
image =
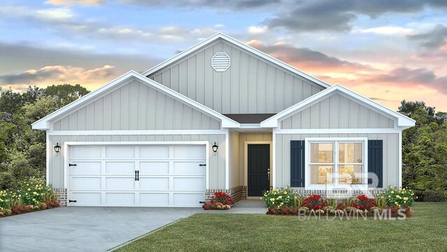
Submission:
<svg viewBox="0 0 447 252">
<path fill-rule="evenodd" d="M 383 186 L 400 184 L 400 131 L 395 119 L 334 94 L 280 122 L 274 131 L 275 186 L 290 184 L 291 140 L 367 138 L 383 140 Z M 337 132 L 339 131 L 339 132 Z"/>
</svg>

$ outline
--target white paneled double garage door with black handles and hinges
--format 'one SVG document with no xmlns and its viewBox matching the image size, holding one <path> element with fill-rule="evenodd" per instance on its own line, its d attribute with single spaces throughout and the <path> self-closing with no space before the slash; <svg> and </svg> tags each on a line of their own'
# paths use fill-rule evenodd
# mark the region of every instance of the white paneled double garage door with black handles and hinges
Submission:
<svg viewBox="0 0 447 252">
<path fill-rule="evenodd" d="M 71 146 L 68 205 L 201 207 L 205 155 L 205 145 Z"/>
</svg>

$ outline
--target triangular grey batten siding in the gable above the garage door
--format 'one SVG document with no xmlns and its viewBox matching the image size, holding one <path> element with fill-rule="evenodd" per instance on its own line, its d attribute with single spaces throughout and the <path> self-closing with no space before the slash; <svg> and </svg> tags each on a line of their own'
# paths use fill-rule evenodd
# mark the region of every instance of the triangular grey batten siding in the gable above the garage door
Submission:
<svg viewBox="0 0 447 252">
<path fill-rule="evenodd" d="M 136 80 L 54 122 L 55 131 L 182 129 L 220 129 L 220 121 Z"/>
</svg>

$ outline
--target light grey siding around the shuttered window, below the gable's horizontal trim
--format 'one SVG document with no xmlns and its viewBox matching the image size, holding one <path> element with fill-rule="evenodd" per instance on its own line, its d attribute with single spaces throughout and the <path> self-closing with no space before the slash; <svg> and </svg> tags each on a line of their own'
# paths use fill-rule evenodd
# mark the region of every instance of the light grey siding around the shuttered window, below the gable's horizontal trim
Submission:
<svg viewBox="0 0 447 252">
<path fill-rule="evenodd" d="M 383 186 L 399 183 L 399 134 L 398 133 L 350 133 L 350 134 L 277 134 L 276 135 L 276 185 L 290 184 L 291 140 L 305 138 L 368 138 L 368 140 L 383 140 Z"/>
</svg>

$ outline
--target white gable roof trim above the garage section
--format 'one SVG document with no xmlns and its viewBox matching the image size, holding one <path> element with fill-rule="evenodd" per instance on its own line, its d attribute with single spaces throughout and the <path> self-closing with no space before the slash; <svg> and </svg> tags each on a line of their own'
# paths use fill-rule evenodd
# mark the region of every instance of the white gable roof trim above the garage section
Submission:
<svg viewBox="0 0 447 252">
<path fill-rule="evenodd" d="M 168 87 L 163 86 L 162 84 L 159 84 L 158 82 L 154 82 L 153 80 L 150 80 L 149 78 L 140 75 L 140 73 L 137 73 L 135 71 L 129 71 L 128 73 L 125 73 L 124 75 L 117 77 L 115 80 L 112 80 L 108 84 L 105 84 L 103 87 L 96 89 L 95 91 L 82 96 L 76 101 L 73 101 L 73 103 L 70 103 L 63 108 L 60 108 L 59 110 L 56 110 L 52 112 L 51 114 L 48 114 L 46 117 L 43 117 L 42 119 L 35 121 L 33 124 L 34 129 L 41 129 L 41 130 L 49 130 L 51 129 L 51 122 L 55 121 L 61 117 L 64 117 L 66 114 L 69 114 L 75 110 L 78 110 L 79 108 L 82 108 L 84 105 L 87 105 L 93 101 L 96 101 L 96 99 L 101 98 L 102 96 L 105 96 L 105 94 L 109 94 L 110 91 L 114 91 L 118 89 L 119 87 L 124 86 L 125 84 L 128 84 L 131 80 L 139 80 L 142 83 L 147 84 L 149 87 L 152 87 L 156 89 L 157 91 L 160 91 L 163 94 L 166 94 L 177 101 L 181 101 L 182 103 L 185 103 L 186 105 L 191 106 L 191 108 L 196 108 L 200 112 L 203 112 L 205 114 L 208 114 L 210 117 L 213 117 L 214 119 L 218 119 L 221 121 L 221 127 L 222 128 L 239 128 L 240 124 L 237 121 L 234 121 L 233 119 L 230 119 L 228 117 L 225 117 L 223 114 L 216 112 L 210 108 L 207 108 L 205 105 L 202 105 L 196 101 L 193 101 L 191 98 L 188 98 L 182 94 L 177 93 L 173 89 L 169 89 Z"/>
</svg>

